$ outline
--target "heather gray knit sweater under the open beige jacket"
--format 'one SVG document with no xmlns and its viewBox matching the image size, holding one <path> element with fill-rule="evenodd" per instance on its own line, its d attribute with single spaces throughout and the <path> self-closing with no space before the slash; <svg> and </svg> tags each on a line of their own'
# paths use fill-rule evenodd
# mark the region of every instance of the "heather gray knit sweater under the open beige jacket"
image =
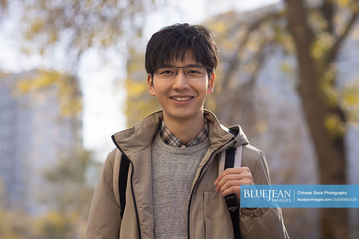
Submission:
<svg viewBox="0 0 359 239">
<path fill-rule="evenodd" d="M 151 145 L 154 238 L 187 238 L 187 210 L 197 168 L 210 147 L 165 144 L 159 131 Z"/>
</svg>

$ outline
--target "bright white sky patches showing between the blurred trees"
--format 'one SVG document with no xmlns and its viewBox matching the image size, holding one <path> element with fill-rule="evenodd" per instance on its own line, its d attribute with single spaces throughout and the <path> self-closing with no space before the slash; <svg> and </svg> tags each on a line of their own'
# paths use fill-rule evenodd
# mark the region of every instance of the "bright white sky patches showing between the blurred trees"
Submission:
<svg viewBox="0 0 359 239">
<path fill-rule="evenodd" d="M 218 2 L 220 4 L 215 4 Z M 180 2 L 171 0 L 168 6 L 159 8 L 148 16 L 144 27 L 145 41 L 147 42 L 157 30 L 168 25 L 201 24 L 206 19 L 229 10 L 242 12 L 279 2 L 279 0 L 182 0 Z M 54 62 L 66 60 L 66 52 L 61 50 L 54 54 L 51 62 L 45 62 L 39 56 L 25 57 L 20 53 L 19 43 L 11 39 L 11 36 L 17 35 L 14 21 L 4 22 L 2 28 L 4 30 L 0 31 L 0 71 L 16 73 L 38 67 L 61 68 Z M 140 47 L 145 48 L 145 46 Z M 125 65 L 121 56 L 111 49 L 106 54 L 111 61 L 104 65 L 96 49 L 89 49 L 84 53 L 78 71 L 84 103 L 83 144 L 86 149 L 94 152 L 94 159 L 100 162 L 103 162 L 107 154 L 115 148 L 111 135 L 126 129 L 126 116 L 123 113 L 126 91 L 121 86 L 121 80 L 126 77 Z M 145 79 L 146 76 L 144 83 Z"/>
</svg>

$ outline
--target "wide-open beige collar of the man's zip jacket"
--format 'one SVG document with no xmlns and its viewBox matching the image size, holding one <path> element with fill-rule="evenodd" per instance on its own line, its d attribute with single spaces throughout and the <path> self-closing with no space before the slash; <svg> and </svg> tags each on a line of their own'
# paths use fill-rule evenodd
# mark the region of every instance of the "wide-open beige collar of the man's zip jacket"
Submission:
<svg viewBox="0 0 359 239">
<path fill-rule="evenodd" d="M 249 144 L 246 135 L 243 133 L 241 126 L 235 125 L 226 128 L 219 123 L 217 117 L 209 110 L 203 110 L 204 117 L 208 120 L 209 124 L 209 141 L 210 150 L 213 151 L 221 145 L 228 143 L 233 138 L 228 129 L 238 133 L 234 139 L 237 143 L 235 147 L 241 144 Z M 135 152 L 143 150 L 152 141 L 163 119 L 163 110 L 156 111 L 145 118 L 133 127 L 117 132 L 113 135 L 115 143 L 129 156 Z M 227 147 L 224 147 L 224 150 Z M 220 151 L 222 151 L 220 150 Z"/>
</svg>

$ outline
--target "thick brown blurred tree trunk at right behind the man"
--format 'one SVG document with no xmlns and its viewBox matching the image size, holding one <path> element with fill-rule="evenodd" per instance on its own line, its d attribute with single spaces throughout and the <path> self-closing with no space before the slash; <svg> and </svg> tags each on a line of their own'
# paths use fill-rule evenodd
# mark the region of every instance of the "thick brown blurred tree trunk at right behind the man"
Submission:
<svg viewBox="0 0 359 239">
<path fill-rule="evenodd" d="M 299 65 L 298 92 L 307 124 L 316 151 L 320 184 L 346 184 L 344 137 L 332 139 L 325 127 L 327 114 L 342 112 L 338 107 L 330 107 L 323 97 L 317 62 L 311 57 L 314 41 L 312 30 L 306 21 L 307 14 L 303 2 L 285 0 L 288 10 L 288 24 L 297 48 Z M 346 208 L 323 208 L 321 214 L 321 238 L 348 238 L 348 210 Z"/>
</svg>

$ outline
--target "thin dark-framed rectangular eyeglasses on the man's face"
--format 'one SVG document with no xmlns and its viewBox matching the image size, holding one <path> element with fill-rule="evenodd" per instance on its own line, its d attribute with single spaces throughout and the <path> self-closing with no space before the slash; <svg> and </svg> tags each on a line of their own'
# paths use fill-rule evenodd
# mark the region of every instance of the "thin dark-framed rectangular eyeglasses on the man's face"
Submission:
<svg viewBox="0 0 359 239">
<path fill-rule="evenodd" d="M 152 70 L 155 69 L 157 76 L 160 78 L 174 78 L 178 74 L 178 68 L 183 68 L 183 74 L 187 78 L 199 78 L 204 76 L 205 68 L 212 70 L 207 66 L 156 66 L 153 67 Z"/>
</svg>

